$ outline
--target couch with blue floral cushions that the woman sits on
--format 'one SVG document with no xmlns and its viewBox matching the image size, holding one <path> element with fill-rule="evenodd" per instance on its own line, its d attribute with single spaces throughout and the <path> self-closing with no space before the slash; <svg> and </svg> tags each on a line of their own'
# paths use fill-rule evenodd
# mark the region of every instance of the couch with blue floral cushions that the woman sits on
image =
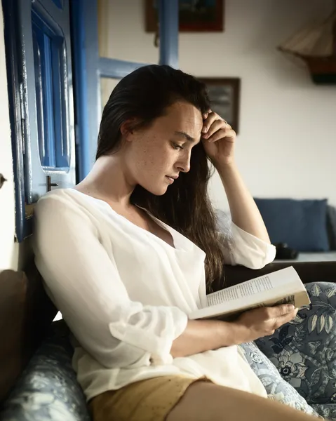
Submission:
<svg viewBox="0 0 336 421">
<path fill-rule="evenodd" d="M 224 285 L 288 266 L 227 266 Z M 307 284 L 311 307 L 271 337 L 241 345 L 240 351 L 270 399 L 336 420 L 336 262 L 294 267 Z M 25 272 L 1 272 L 0 420 L 90 420 L 71 366 L 68 329 L 63 321 L 53 322 L 56 312 L 34 265 Z"/>
</svg>

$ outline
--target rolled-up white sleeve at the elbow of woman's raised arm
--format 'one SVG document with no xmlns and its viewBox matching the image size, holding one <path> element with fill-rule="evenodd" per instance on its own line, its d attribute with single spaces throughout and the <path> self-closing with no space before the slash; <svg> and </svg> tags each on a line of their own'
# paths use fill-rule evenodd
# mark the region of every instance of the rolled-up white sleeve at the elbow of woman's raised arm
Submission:
<svg viewBox="0 0 336 421">
<path fill-rule="evenodd" d="M 220 233 L 224 262 L 227 265 L 242 265 L 250 269 L 261 269 L 273 262 L 276 248 L 256 236 L 237 227 L 231 221 L 225 234 Z"/>
</svg>

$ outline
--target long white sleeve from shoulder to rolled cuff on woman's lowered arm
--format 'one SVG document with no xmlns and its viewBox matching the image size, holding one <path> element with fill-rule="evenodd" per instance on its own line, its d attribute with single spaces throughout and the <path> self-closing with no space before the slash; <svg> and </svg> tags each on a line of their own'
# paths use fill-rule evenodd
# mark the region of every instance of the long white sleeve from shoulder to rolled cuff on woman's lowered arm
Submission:
<svg viewBox="0 0 336 421">
<path fill-rule="evenodd" d="M 171 361 L 187 315 L 131 301 L 95 226 L 76 206 L 49 197 L 34 214 L 36 266 L 80 345 L 108 368 Z"/>
</svg>

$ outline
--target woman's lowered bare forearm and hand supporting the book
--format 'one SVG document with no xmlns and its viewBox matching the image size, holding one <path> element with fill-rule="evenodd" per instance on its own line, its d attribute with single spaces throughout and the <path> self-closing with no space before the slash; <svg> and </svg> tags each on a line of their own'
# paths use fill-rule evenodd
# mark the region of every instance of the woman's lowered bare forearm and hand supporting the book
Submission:
<svg viewBox="0 0 336 421">
<path fill-rule="evenodd" d="M 237 321 L 189 320 L 184 332 L 173 341 L 173 357 L 199 354 L 250 342 L 267 335 L 295 318 L 293 305 L 262 307 L 243 313 Z"/>
</svg>

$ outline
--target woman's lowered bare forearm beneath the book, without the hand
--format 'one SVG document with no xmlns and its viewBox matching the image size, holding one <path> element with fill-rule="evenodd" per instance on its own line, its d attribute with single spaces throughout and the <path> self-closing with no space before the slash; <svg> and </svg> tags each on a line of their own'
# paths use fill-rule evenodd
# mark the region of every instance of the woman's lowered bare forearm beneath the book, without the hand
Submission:
<svg viewBox="0 0 336 421">
<path fill-rule="evenodd" d="M 199 354 L 247 340 L 247 335 L 238 323 L 220 320 L 189 320 L 182 335 L 176 338 L 170 350 L 174 358 Z"/>
</svg>

